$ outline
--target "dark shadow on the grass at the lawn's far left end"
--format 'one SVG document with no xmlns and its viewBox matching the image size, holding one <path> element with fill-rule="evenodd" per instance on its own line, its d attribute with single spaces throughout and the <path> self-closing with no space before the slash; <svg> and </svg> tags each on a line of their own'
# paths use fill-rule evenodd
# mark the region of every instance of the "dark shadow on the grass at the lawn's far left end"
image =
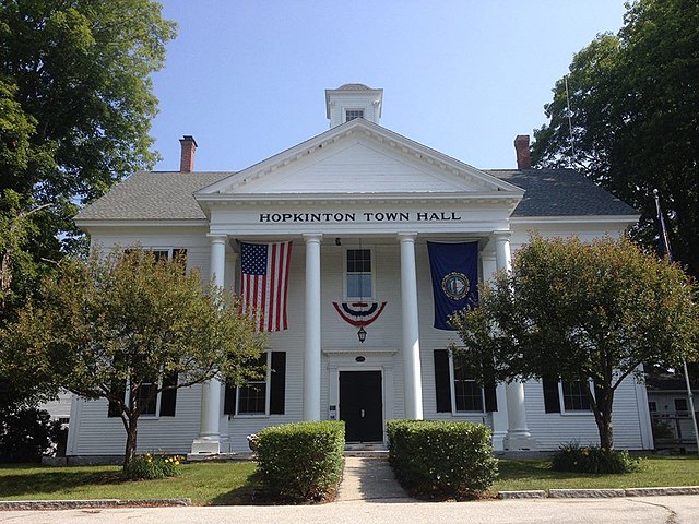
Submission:
<svg viewBox="0 0 699 524">
<path fill-rule="evenodd" d="M 0 497 L 16 497 L 29 493 L 56 493 L 80 486 L 114 485 L 123 480 L 120 471 L 115 472 L 66 472 L 47 468 L 36 473 L 0 475 Z"/>
</svg>

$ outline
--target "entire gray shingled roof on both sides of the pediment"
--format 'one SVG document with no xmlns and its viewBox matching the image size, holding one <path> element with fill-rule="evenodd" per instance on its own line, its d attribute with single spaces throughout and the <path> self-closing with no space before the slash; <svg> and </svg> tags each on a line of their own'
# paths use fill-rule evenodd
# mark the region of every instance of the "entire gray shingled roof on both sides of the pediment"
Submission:
<svg viewBox="0 0 699 524">
<path fill-rule="evenodd" d="M 526 191 L 512 216 L 636 215 L 636 210 L 572 169 L 485 172 Z M 85 207 L 79 221 L 205 218 L 192 193 L 234 171 L 137 172 Z"/>
</svg>

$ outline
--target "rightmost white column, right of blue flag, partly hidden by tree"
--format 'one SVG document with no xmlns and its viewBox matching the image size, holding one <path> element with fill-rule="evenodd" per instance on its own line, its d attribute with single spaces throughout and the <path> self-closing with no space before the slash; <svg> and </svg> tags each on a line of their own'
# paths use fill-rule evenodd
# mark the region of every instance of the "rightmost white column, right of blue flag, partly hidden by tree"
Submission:
<svg viewBox="0 0 699 524">
<path fill-rule="evenodd" d="M 510 231 L 495 231 L 495 262 L 498 271 L 510 271 Z M 530 451 L 536 449 L 536 442 L 526 427 L 526 410 L 524 407 L 524 383 L 514 381 L 505 388 L 507 397 L 507 436 L 503 446 L 508 451 Z"/>
</svg>

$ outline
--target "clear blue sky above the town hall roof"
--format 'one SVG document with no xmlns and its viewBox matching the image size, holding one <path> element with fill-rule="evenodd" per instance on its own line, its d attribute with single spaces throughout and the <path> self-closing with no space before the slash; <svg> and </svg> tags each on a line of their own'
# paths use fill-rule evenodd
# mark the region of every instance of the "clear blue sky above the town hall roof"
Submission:
<svg viewBox="0 0 699 524">
<path fill-rule="evenodd" d="M 381 124 L 479 168 L 546 120 L 555 81 L 624 0 L 164 0 L 178 24 L 154 76 L 158 170 L 239 170 L 329 127 L 324 90 L 383 91 Z"/>
</svg>

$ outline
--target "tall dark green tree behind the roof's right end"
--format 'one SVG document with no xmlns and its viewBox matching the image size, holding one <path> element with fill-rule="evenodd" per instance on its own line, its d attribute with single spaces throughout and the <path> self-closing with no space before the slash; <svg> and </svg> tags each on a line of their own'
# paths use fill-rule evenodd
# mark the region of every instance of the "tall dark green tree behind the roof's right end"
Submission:
<svg viewBox="0 0 699 524">
<path fill-rule="evenodd" d="M 571 129 L 565 80 L 534 131 L 534 166 L 582 170 L 642 213 L 633 235 L 649 245 L 657 188 L 675 257 L 699 276 L 699 3 L 637 0 L 617 35 L 578 52 L 567 75 Z"/>
</svg>

